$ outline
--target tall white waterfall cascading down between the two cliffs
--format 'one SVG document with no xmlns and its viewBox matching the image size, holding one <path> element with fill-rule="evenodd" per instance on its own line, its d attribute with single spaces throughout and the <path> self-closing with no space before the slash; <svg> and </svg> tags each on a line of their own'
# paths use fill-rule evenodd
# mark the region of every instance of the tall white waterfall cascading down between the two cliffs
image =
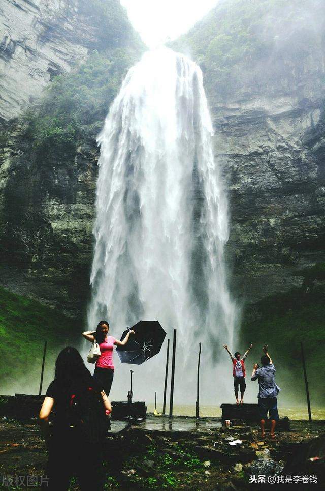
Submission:
<svg viewBox="0 0 325 491">
<path fill-rule="evenodd" d="M 139 319 L 158 319 L 168 335 L 177 328 L 188 383 L 198 342 L 211 378 L 221 342 L 234 336 L 228 209 L 212 134 L 200 68 L 160 48 L 129 70 L 98 138 L 89 328 L 106 318 L 116 337 Z M 162 383 L 163 353 L 137 368 L 151 390 Z M 118 367 L 121 377 L 130 367 Z"/>
</svg>

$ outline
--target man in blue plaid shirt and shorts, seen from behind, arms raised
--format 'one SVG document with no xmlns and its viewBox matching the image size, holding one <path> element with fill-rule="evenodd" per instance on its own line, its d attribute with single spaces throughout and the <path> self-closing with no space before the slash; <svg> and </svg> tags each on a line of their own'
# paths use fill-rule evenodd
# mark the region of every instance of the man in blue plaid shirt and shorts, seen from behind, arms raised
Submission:
<svg viewBox="0 0 325 491">
<path fill-rule="evenodd" d="M 262 438 L 265 433 L 265 420 L 268 418 L 268 412 L 271 420 L 271 438 L 275 438 L 274 430 L 277 420 L 279 419 L 277 395 L 280 388 L 275 383 L 275 366 L 268 353 L 267 344 L 263 347 L 264 356 L 261 358 L 262 366 L 259 368 L 257 363 L 254 364 L 251 380 L 258 379 L 258 412 L 261 418 Z"/>
</svg>

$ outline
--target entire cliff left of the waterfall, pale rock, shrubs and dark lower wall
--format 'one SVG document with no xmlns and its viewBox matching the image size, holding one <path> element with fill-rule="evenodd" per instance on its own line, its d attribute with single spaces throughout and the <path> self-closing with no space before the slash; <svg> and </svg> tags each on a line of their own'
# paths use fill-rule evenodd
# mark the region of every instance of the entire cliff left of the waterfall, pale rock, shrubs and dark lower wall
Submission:
<svg viewBox="0 0 325 491">
<path fill-rule="evenodd" d="M 92 259 L 95 137 L 142 45 L 118 0 L 8 5 L 6 16 L 11 9 L 16 17 L 7 22 L 10 40 L 7 35 L 2 51 L 4 119 L 39 95 L 51 74 L 68 71 L 91 52 L 2 132 L 0 284 L 81 317 Z"/>
</svg>

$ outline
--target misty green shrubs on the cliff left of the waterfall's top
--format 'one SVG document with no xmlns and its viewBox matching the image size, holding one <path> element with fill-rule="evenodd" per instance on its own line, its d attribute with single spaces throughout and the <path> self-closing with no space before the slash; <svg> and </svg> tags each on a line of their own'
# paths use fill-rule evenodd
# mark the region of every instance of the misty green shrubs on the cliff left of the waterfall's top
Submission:
<svg viewBox="0 0 325 491">
<path fill-rule="evenodd" d="M 127 69 L 133 50 L 93 51 L 70 74 L 53 79 L 43 100 L 24 115 L 32 149 L 44 157 L 53 150 L 74 153 L 78 141 L 95 138 Z"/>
</svg>

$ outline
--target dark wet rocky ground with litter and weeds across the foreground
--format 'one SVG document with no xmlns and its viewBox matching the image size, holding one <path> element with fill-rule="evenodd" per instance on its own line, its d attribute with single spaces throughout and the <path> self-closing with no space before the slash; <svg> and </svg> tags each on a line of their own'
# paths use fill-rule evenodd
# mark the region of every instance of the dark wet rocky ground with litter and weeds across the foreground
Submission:
<svg viewBox="0 0 325 491">
<path fill-rule="evenodd" d="M 257 425 L 224 427 L 217 418 L 202 418 L 197 422 L 189 417 L 149 415 L 145 422 L 136 424 L 114 421 L 107 436 L 105 487 L 265 489 L 269 487 L 267 483 L 250 483 L 250 476 L 256 479 L 258 475 L 286 476 L 289 469 L 290 476 L 317 475 L 318 482 L 293 481 L 283 486 L 306 491 L 320 489 L 324 485 L 324 438 L 320 436 L 324 431 L 322 421 L 291 421 L 289 431 L 279 431 L 276 439 L 271 440 L 268 434 L 261 439 Z M 232 445 L 236 440 L 242 443 Z M 320 458 L 312 461 L 311 457 Z M 26 488 L 27 479 L 29 489 L 39 488 L 45 463 L 46 449 L 37 420 L 0 421 L 2 489 Z M 9 484 L 2 476 L 25 476 L 24 484 L 19 484 L 17 479 Z M 34 483 L 29 476 L 34 476 Z M 276 479 L 279 482 L 273 489 L 281 486 L 281 478 Z M 71 491 L 77 489 L 73 479 Z"/>
</svg>

